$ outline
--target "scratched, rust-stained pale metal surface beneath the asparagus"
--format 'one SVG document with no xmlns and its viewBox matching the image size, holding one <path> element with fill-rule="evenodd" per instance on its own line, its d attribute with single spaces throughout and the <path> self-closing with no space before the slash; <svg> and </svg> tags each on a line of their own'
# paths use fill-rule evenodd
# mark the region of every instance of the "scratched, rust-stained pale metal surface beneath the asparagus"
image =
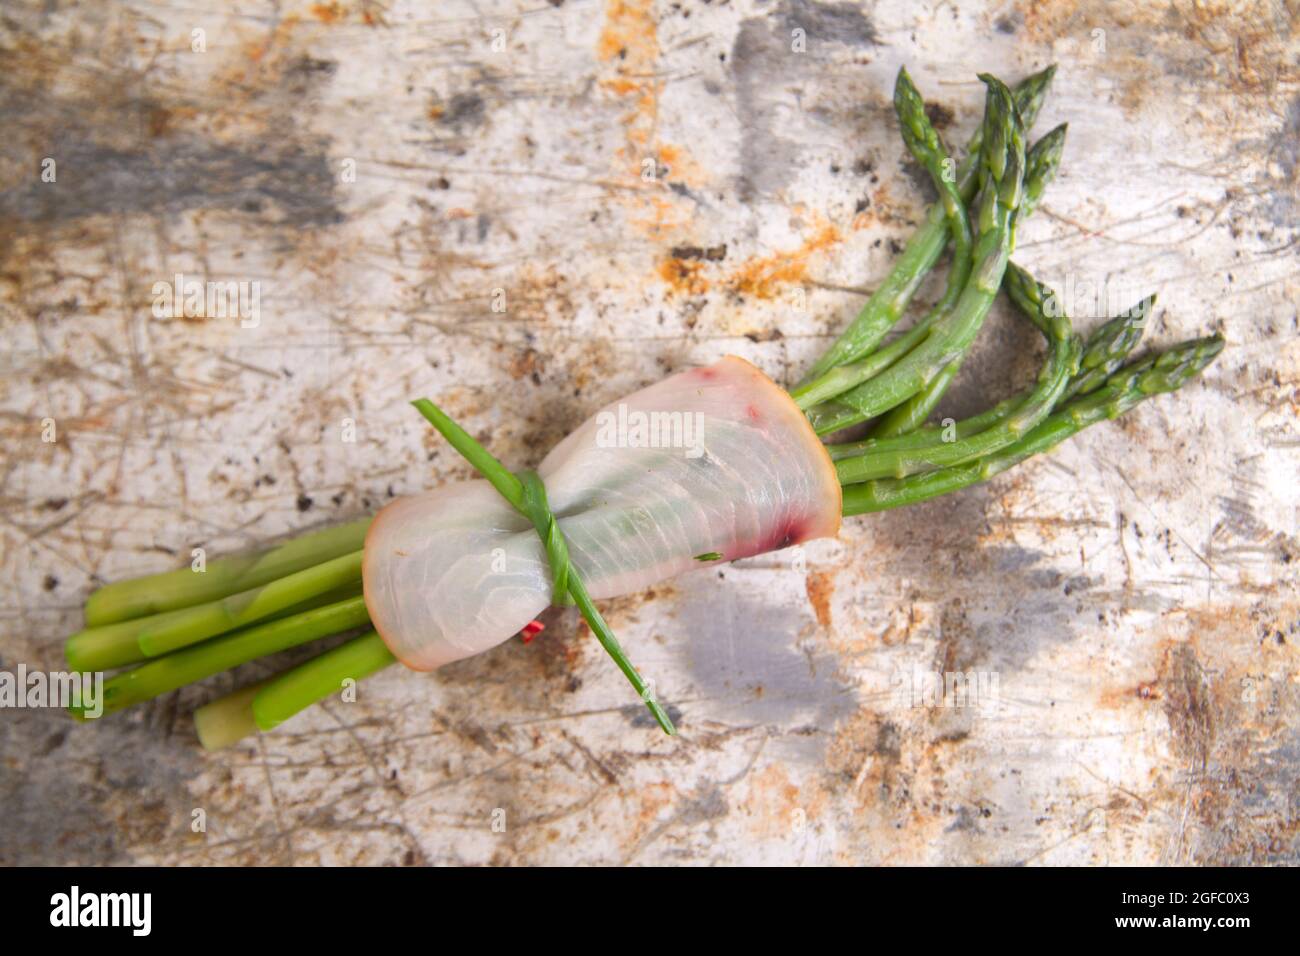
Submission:
<svg viewBox="0 0 1300 956">
<path fill-rule="evenodd" d="M 988 486 L 611 602 L 679 739 L 572 614 L 218 754 L 226 679 L 4 711 L 0 861 L 1300 862 L 1294 4 L 220 7 L 0 14 L 5 669 L 57 669 L 96 583 L 464 477 L 410 397 L 526 466 L 692 363 L 794 377 L 926 202 L 904 64 L 961 143 L 976 72 L 1060 62 L 1019 261 L 1228 350 Z M 260 325 L 153 317 L 177 272 L 257 281 Z M 1036 362 L 1000 307 L 950 410 Z"/>
</svg>

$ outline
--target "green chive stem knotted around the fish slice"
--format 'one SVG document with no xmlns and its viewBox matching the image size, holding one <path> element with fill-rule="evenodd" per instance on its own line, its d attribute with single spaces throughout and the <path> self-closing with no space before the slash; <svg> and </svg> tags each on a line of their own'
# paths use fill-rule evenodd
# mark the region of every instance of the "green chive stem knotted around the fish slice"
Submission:
<svg viewBox="0 0 1300 956">
<path fill-rule="evenodd" d="M 564 541 L 564 533 L 555 522 L 555 515 L 551 514 L 550 506 L 546 503 L 546 490 L 542 486 L 541 479 L 532 472 L 523 472 L 523 477 L 516 476 L 428 398 L 417 398 L 411 405 L 428 419 L 429 424 L 438 429 L 442 437 L 450 442 L 451 447 L 459 451 L 480 475 L 488 479 L 491 486 L 500 493 L 500 497 L 512 509 L 533 523 L 538 536 L 542 538 L 542 544 L 546 546 L 546 557 L 551 566 L 551 580 L 556 592 L 552 594 L 552 601 L 559 604 L 555 598 L 556 596 L 562 596 L 562 588 L 567 588 L 573 604 L 577 605 L 578 611 L 582 614 L 582 619 L 592 628 L 592 633 L 595 635 L 601 646 L 604 648 L 604 653 L 614 658 L 614 662 L 623 671 L 623 675 L 636 689 L 637 695 L 640 695 L 641 700 L 645 701 L 650 713 L 654 714 L 654 719 L 663 728 L 663 732 L 670 736 L 676 734 L 677 728 L 672 726 L 668 711 L 655 700 L 654 689 L 646 683 L 637 669 L 632 666 L 627 654 L 623 653 L 623 648 L 614 636 L 614 631 L 610 630 L 610 626 L 604 623 L 604 618 L 601 617 L 595 605 L 592 604 L 592 597 L 586 593 L 586 585 L 572 572 L 568 545 Z"/>
</svg>

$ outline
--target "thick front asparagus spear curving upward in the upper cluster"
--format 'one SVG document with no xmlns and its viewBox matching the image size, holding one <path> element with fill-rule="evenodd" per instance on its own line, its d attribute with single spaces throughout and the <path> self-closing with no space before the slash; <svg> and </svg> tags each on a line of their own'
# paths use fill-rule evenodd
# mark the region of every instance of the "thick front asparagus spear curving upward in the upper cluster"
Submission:
<svg viewBox="0 0 1300 956">
<path fill-rule="evenodd" d="M 944 365 L 966 351 L 997 295 L 1010 255 L 1011 219 L 1023 195 L 1024 140 L 1010 91 L 996 77 L 982 74 L 980 79 L 988 86 L 988 98 L 980 152 L 980 237 L 971 278 L 952 312 L 894 365 L 836 402 L 810 408 L 806 399 L 796 399 L 818 434 L 875 418 L 926 388 Z"/>
</svg>

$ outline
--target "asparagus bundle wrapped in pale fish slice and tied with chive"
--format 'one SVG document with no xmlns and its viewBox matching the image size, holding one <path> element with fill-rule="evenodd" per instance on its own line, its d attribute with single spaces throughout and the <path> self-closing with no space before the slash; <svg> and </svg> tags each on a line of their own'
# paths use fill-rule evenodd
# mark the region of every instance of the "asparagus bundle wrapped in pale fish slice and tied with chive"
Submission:
<svg viewBox="0 0 1300 956">
<path fill-rule="evenodd" d="M 394 502 L 378 519 L 306 535 L 260 554 L 100 588 L 66 643 L 74 670 L 122 669 L 105 713 L 329 635 L 344 644 L 195 714 L 200 741 L 270 730 L 347 680 L 396 659 L 428 670 L 507 640 L 547 604 L 576 604 L 667 732 L 667 713 L 593 598 L 636 591 L 701 562 L 833 535 L 840 515 L 881 511 L 985 481 L 1150 395 L 1174 392 L 1222 350 L 1218 336 L 1130 359 L 1153 297 L 1080 338 L 1044 285 L 1010 263 L 1017 226 L 1052 181 L 1058 126 L 1026 147 L 1053 69 L 1008 88 L 983 75 L 984 118 L 961 164 L 905 70 L 894 108 L 939 202 L 862 312 L 786 395 L 728 358 L 621 405 L 698 416 L 692 454 L 606 447 L 589 421 L 540 473 L 511 473 L 434 403 L 417 410 L 486 481 Z M 888 338 L 949 250 L 940 299 Z M 1046 339 L 1032 386 L 944 427 L 927 419 L 961 368 L 998 290 Z M 818 436 L 862 429 L 854 440 Z M 549 503 L 547 496 L 555 501 Z M 377 630 L 372 630 L 377 628 Z"/>
</svg>

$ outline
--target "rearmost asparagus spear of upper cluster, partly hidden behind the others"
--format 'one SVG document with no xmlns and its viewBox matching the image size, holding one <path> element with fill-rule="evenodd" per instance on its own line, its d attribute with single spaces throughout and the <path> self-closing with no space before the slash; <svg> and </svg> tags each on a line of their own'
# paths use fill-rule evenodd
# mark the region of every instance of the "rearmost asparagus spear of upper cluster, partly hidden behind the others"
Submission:
<svg viewBox="0 0 1300 956">
<path fill-rule="evenodd" d="M 1056 66 L 1048 66 L 1015 87 L 1015 107 L 1026 129 L 1032 126 L 1037 118 L 1054 73 Z M 982 124 L 966 147 L 966 159 L 957 168 L 957 186 L 962 200 L 967 203 L 974 199 L 979 182 L 978 157 L 983 140 L 984 125 Z M 868 355 L 906 311 L 907 303 L 911 302 L 911 297 L 915 295 L 922 281 L 939 261 L 946 243 L 948 216 L 942 203 L 936 203 L 926 212 L 924 222 L 907 241 L 893 269 L 867 299 L 858 317 L 840 333 L 826 354 L 812 363 L 803 377 L 803 384 L 820 377 L 836 365 Z"/>
</svg>

